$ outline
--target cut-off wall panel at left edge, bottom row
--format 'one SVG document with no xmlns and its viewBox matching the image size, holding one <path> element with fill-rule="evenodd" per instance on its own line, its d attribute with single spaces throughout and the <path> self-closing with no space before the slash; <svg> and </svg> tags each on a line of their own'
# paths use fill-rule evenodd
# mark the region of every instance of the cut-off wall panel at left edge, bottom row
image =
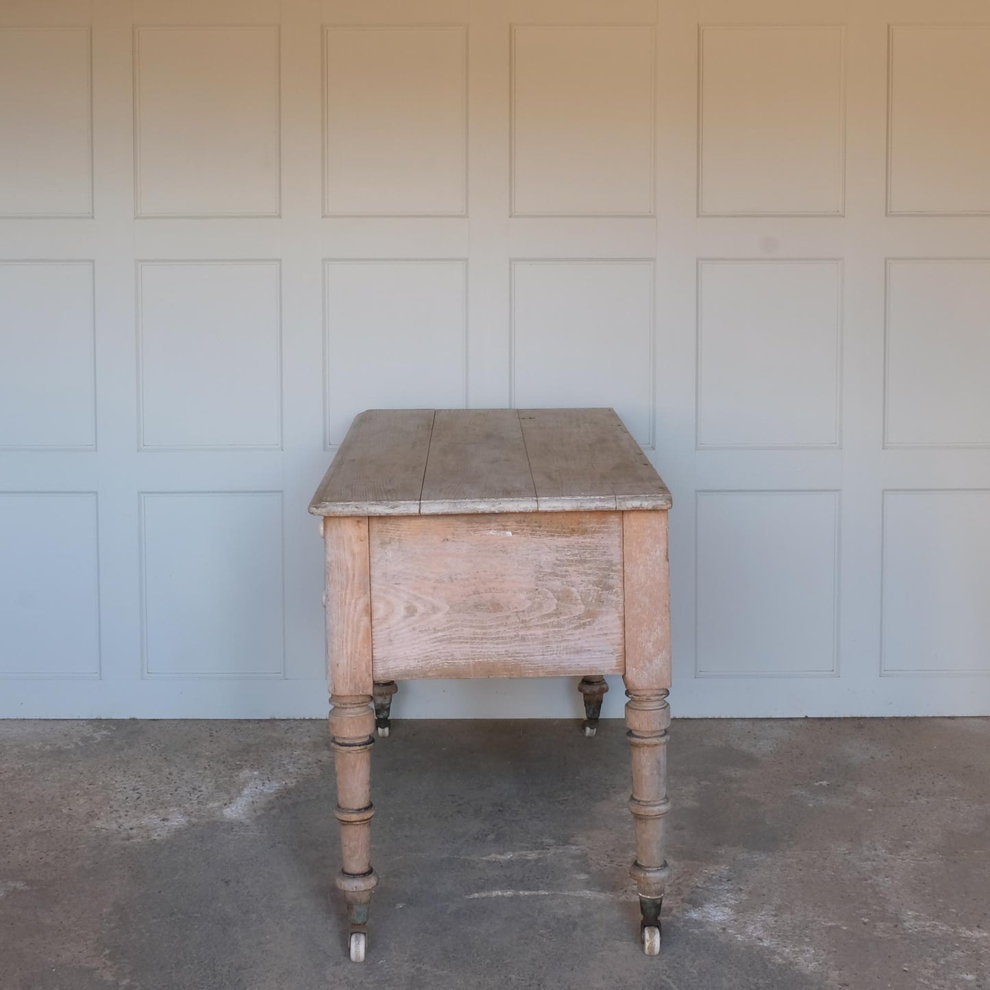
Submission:
<svg viewBox="0 0 990 990">
<path fill-rule="evenodd" d="M 0 678 L 98 676 L 96 493 L 0 493 L 0 561 Z"/>
</svg>

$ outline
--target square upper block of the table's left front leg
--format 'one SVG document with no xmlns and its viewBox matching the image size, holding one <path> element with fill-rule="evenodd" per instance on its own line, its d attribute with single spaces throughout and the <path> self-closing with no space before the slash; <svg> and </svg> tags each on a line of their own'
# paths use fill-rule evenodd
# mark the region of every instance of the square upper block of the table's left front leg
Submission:
<svg viewBox="0 0 990 990">
<path fill-rule="evenodd" d="M 330 683 L 335 695 L 370 697 L 371 579 L 367 518 L 328 518 L 324 524 L 324 549 Z"/>
</svg>

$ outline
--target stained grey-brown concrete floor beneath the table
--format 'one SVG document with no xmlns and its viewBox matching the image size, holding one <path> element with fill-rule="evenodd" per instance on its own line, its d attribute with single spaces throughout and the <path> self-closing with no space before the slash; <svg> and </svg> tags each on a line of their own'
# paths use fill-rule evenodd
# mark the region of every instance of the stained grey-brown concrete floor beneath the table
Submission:
<svg viewBox="0 0 990 990">
<path fill-rule="evenodd" d="M 675 722 L 644 956 L 618 722 L 396 722 L 367 961 L 313 722 L 0 723 L 3 990 L 990 988 L 990 720 Z"/>
</svg>

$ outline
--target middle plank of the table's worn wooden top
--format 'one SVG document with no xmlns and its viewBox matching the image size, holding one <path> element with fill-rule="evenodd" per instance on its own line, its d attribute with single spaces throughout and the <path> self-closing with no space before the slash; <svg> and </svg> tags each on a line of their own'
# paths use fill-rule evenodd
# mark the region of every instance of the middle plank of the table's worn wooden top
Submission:
<svg viewBox="0 0 990 990">
<path fill-rule="evenodd" d="M 439 409 L 420 512 L 535 512 L 537 492 L 512 409 Z"/>
</svg>

